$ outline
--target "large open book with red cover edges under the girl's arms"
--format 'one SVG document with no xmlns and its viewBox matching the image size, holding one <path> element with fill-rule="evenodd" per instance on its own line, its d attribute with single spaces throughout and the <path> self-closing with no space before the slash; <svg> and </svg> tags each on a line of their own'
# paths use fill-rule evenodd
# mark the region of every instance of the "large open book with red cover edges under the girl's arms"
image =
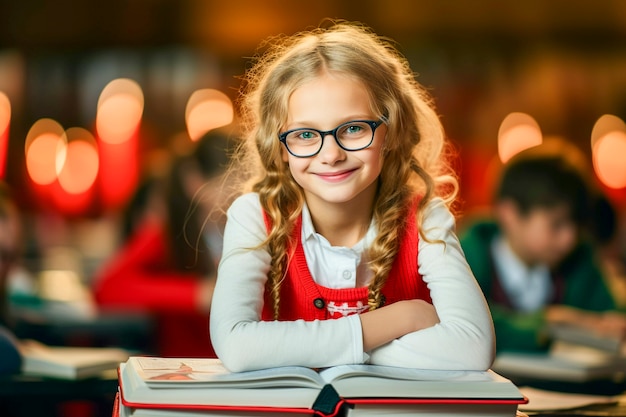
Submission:
<svg viewBox="0 0 626 417">
<path fill-rule="evenodd" d="M 525 401 L 511 381 L 492 371 L 341 365 L 319 371 L 290 366 L 231 373 L 217 359 L 133 356 L 120 365 L 119 376 L 120 414 L 132 417 L 191 416 L 202 410 L 207 414 L 198 415 L 226 410 L 230 416 L 331 416 L 342 407 L 351 415 L 380 407 L 410 413 L 422 407 L 434 410 L 430 415 L 474 407 L 483 416 L 514 416 Z"/>
</svg>

